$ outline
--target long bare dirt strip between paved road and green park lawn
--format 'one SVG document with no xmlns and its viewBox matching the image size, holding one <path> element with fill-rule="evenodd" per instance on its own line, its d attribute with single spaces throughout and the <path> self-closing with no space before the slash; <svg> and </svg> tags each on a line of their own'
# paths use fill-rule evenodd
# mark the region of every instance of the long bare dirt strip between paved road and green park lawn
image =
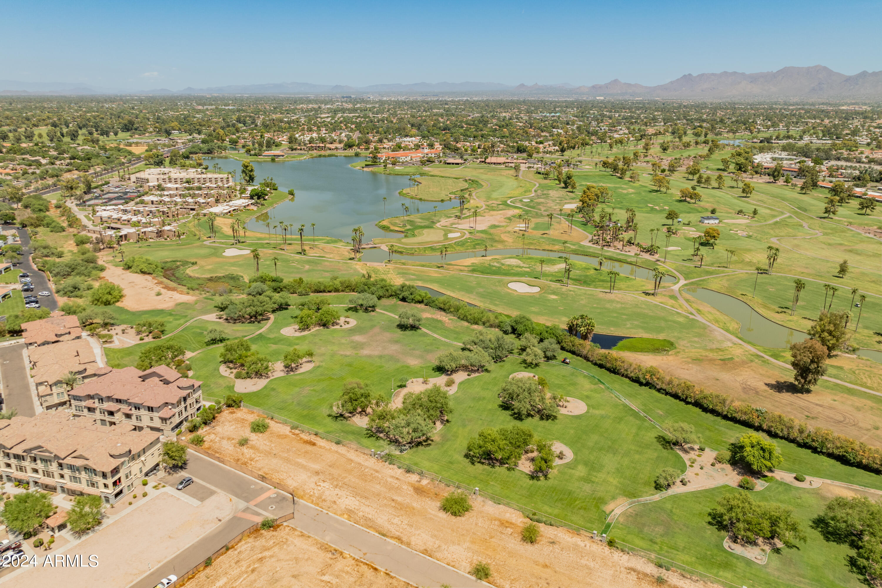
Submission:
<svg viewBox="0 0 882 588">
<path fill-rule="evenodd" d="M 494 585 L 581 586 L 590 577 L 593 585 L 650 588 L 658 585 L 655 578 L 660 573 L 670 586 L 710 585 L 559 527 L 542 526 L 539 542 L 528 545 L 520 540 L 520 529 L 529 521 L 482 499 L 474 501 L 475 508 L 465 517 L 450 517 L 438 510 L 448 488 L 279 423 L 273 422 L 263 435 L 250 435 L 250 443 L 238 447 L 236 441 L 256 416 L 243 409 L 224 411 L 204 430 L 205 449 L 454 568 L 467 571 L 478 561 L 488 562 Z"/>
</svg>

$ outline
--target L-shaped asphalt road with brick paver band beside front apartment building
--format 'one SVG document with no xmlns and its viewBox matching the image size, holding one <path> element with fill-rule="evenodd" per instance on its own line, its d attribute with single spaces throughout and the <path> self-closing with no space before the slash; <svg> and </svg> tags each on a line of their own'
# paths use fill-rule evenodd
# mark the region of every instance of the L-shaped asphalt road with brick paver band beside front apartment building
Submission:
<svg viewBox="0 0 882 588">
<path fill-rule="evenodd" d="M 214 527 L 212 531 L 203 535 L 190 547 L 131 584 L 130 588 L 153 588 L 162 578 L 168 577 L 170 574 L 182 577 L 183 574 L 196 567 L 200 562 L 205 562 L 209 555 L 259 520 L 264 517 L 287 515 L 294 508 L 291 496 L 281 490 L 274 490 L 271 486 L 231 470 L 212 459 L 204 458 L 193 451 L 189 452 L 188 458 L 187 467 L 181 473 L 162 478 L 162 483 L 174 488 L 184 476 L 191 476 L 196 481 L 184 488 L 183 494 L 202 502 L 216 492 L 222 492 L 233 498 L 236 510 L 240 514 L 230 517 L 221 525 Z M 251 504 L 252 502 L 253 504 Z"/>
</svg>

